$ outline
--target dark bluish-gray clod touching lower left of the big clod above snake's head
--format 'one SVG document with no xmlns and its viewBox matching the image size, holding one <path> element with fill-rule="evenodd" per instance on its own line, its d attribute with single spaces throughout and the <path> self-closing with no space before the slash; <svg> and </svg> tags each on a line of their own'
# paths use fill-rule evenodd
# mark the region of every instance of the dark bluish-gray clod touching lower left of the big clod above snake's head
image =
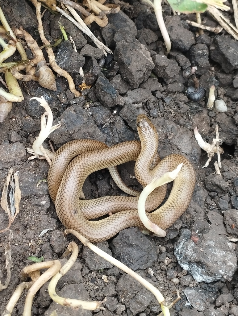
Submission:
<svg viewBox="0 0 238 316">
<path fill-rule="evenodd" d="M 98 77 L 95 86 L 96 96 L 102 104 L 108 107 L 118 104 L 118 92 L 103 74 Z"/>
</svg>

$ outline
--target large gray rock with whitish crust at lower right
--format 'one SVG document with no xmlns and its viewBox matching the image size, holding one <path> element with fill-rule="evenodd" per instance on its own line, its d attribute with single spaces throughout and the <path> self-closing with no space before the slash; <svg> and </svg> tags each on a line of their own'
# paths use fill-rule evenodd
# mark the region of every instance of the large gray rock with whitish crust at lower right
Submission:
<svg viewBox="0 0 238 316">
<path fill-rule="evenodd" d="M 181 236 L 174 245 L 174 254 L 180 266 L 188 270 L 198 282 L 231 280 L 237 269 L 237 260 L 233 245 L 225 235 L 223 216 L 210 211 L 208 218 L 210 229 L 209 225 L 204 231 L 202 228 L 196 239 L 189 230 L 181 230 Z"/>
</svg>

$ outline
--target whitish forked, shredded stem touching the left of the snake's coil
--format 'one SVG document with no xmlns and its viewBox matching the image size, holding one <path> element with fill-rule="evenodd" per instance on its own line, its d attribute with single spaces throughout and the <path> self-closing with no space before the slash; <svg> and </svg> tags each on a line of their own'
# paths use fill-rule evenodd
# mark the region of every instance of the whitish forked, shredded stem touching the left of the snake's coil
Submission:
<svg viewBox="0 0 238 316">
<path fill-rule="evenodd" d="M 38 157 L 39 155 L 45 156 L 45 154 L 42 152 L 40 146 L 45 141 L 45 139 L 52 133 L 52 131 L 56 130 L 61 126 L 61 124 L 57 124 L 52 126 L 53 123 L 53 114 L 51 111 L 50 106 L 46 102 L 46 100 L 43 98 L 31 98 L 31 100 L 37 100 L 40 102 L 40 105 L 44 107 L 46 112 L 41 116 L 41 125 L 40 125 L 40 134 L 39 137 L 34 141 L 32 144 L 32 149 L 27 148 L 27 152 L 33 155 L 36 155 Z M 47 124 L 46 124 L 46 115 L 47 115 Z M 49 149 L 44 149 L 44 151 L 47 153 L 50 159 L 53 158 L 54 154 Z M 34 157 L 35 158 L 35 157 Z M 31 157 L 31 159 L 33 159 Z"/>
</svg>

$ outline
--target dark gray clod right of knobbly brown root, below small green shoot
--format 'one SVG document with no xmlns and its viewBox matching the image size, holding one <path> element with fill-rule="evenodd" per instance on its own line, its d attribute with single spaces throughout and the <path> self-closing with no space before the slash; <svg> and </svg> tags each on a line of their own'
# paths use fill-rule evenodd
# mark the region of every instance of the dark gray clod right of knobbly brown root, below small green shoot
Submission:
<svg viewBox="0 0 238 316">
<path fill-rule="evenodd" d="M 75 52 L 70 41 L 63 41 L 55 57 L 55 61 L 59 67 L 66 70 L 70 74 L 79 73 L 80 67 L 84 65 L 84 57 Z"/>
</svg>

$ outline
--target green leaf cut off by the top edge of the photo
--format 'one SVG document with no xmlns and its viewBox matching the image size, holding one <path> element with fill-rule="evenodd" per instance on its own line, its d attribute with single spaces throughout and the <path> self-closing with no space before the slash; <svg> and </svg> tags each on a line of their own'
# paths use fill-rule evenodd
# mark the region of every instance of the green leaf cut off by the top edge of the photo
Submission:
<svg viewBox="0 0 238 316">
<path fill-rule="evenodd" d="M 204 3 L 198 3 L 191 0 L 168 0 L 170 6 L 176 11 L 181 13 L 202 13 L 207 9 Z"/>
</svg>

